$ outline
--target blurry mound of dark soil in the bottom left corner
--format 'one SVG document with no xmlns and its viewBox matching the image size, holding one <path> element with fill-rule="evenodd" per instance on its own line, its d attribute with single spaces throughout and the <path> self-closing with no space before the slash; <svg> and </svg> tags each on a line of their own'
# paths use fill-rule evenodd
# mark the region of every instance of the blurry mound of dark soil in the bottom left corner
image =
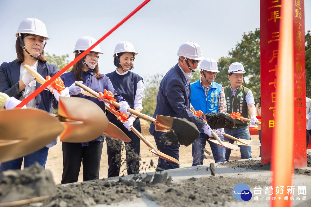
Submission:
<svg viewBox="0 0 311 207">
<path fill-rule="evenodd" d="M 24 170 L 0 173 L 0 203 L 25 200 L 39 196 L 54 196 L 57 192 L 52 173 L 39 163 Z"/>
</svg>

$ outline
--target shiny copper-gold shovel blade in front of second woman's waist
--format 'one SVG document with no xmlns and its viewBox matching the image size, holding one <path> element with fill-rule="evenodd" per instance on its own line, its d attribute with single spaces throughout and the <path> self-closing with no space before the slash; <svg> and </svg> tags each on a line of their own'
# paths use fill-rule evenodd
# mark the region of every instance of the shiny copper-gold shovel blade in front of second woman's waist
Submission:
<svg viewBox="0 0 311 207">
<path fill-rule="evenodd" d="M 79 97 L 60 97 L 57 117 L 65 130 L 60 134 L 62 142 L 90 142 L 108 127 L 104 111 L 93 101 Z"/>
</svg>

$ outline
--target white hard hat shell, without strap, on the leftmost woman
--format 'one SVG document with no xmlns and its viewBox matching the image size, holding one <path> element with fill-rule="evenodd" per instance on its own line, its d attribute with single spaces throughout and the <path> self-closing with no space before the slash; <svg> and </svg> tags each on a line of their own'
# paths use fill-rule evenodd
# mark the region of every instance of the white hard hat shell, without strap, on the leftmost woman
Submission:
<svg viewBox="0 0 311 207">
<path fill-rule="evenodd" d="M 44 23 L 35 18 L 24 19 L 19 25 L 15 36 L 18 37 L 19 33 L 35 34 L 41 37 L 45 37 L 46 39 L 49 39 Z"/>
</svg>

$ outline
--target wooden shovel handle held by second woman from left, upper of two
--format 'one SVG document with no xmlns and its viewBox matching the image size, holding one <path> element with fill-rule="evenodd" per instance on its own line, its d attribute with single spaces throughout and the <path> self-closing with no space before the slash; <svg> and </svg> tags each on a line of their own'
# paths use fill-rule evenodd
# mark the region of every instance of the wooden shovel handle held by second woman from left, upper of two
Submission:
<svg viewBox="0 0 311 207">
<path fill-rule="evenodd" d="M 92 90 L 91 88 L 87 87 L 86 85 L 82 84 L 82 83 L 79 83 L 78 81 L 75 81 L 75 84 L 77 86 L 79 86 L 80 88 L 83 88 L 84 90 L 86 90 L 87 92 L 91 93 L 93 96 L 97 97 L 98 96 L 98 93 L 95 92 L 94 90 Z M 106 98 L 102 98 L 102 100 L 106 103 L 109 103 L 111 104 L 112 106 L 115 106 L 115 107 L 118 107 L 120 108 L 121 104 L 117 103 L 117 102 L 114 102 L 114 101 L 110 101 L 109 99 L 106 99 Z M 143 114 L 143 113 L 140 113 L 134 109 L 131 109 L 131 108 L 128 108 L 128 112 L 130 112 L 131 114 L 133 115 L 136 115 L 142 119 L 146 119 L 147 121 L 150 121 L 154 124 L 157 124 L 157 121 L 156 119 L 146 115 L 146 114 Z"/>
</svg>

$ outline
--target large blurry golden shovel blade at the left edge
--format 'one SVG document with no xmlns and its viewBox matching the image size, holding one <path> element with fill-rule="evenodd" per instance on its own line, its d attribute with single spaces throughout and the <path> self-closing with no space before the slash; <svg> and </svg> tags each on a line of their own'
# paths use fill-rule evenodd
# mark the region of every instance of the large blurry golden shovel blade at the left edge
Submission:
<svg viewBox="0 0 311 207">
<path fill-rule="evenodd" d="M 0 162 L 37 151 L 64 130 L 57 119 L 40 109 L 3 110 L 0 117 Z"/>
</svg>

